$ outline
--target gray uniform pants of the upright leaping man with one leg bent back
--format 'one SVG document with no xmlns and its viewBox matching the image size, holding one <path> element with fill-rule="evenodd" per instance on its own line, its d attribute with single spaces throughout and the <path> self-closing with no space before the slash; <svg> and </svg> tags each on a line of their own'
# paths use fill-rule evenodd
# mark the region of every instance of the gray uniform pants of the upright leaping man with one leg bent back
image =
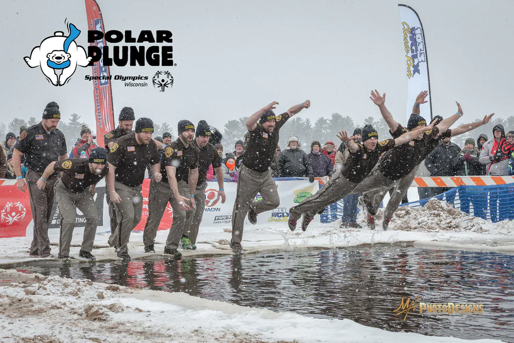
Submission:
<svg viewBox="0 0 514 343">
<path fill-rule="evenodd" d="M 261 193 L 262 200 L 253 200 L 257 193 Z M 279 192 L 271 177 L 271 169 L 259 173 L 241 165 L 237 177 L 234 210 L 232 211 L 233 242 L 241 243 L 243 240 L 245 216 L 250 209 L 250 205 L 257 214 L 279 207 Z"/>
</svg>

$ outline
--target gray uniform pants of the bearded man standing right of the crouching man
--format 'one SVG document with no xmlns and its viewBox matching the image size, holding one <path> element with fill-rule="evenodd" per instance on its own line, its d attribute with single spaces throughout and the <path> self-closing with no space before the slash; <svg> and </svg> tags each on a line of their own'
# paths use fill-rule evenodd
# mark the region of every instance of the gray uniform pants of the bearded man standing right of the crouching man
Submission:
<svg viewBox="0 0 514 343">
<path fill-rule="evenodd" d="M 115 181 L 114 189 L 121 197 L 121 203 L 114 204 L 117 223 L 116 229 L 111 232 L 111 237 L 109 237 L 109 244 L 114 246 L 116 252 L 120 255 L 122 252 L 128 251 L 127 245 L 130 241 L 130 234 L 141 220 L 143 197 L 141 195 L 141 185 L 129 187 Z"/>
</svg>

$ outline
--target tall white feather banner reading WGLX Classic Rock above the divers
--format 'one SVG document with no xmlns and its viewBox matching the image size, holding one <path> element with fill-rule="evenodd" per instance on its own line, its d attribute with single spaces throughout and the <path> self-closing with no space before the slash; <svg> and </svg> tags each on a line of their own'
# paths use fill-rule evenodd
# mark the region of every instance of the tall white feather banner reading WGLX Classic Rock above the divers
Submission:
<svg viewBox="0 0 514 343">
<path fill-rule="evenodd" d="M 427 46 L 425 32 L 419 15 L 407 5 L 398 5 L 400 12 L 405 73 L 407 75 L 407 121 L 412 113 L 412 105 L 420 92 L 428 91 L 428 103 L 421 105 L 422 117 L 432 119 L 432 93 L 428 73 Z M 431 121 L 431 120 L 430 120 Z"/>
</svg>

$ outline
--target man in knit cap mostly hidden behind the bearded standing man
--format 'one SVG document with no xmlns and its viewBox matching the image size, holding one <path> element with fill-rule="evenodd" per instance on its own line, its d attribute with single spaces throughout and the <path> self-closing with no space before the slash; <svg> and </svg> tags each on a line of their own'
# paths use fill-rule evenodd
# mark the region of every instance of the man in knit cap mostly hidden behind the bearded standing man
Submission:
<svg viewBox="0 0 514 343">
<path fill-rule="evenodd" d="M 128 135 L 132 132 L 134 120 L 136 120 L 136 116 L 134 115 L 134 110 L 132 107 L 123 107 L 123 109 L 120 111 L 120 115 L 118 116 L 118 127 L 103 135 L 103 142 L 107 156 L 109 155 L 112 146 L 116 142 L 116 139 L 123 137 L 124 135 Z M 112 233 L 116 229 L 116 210 L 114 209 L 114 204 L 111 201 L 107 187 L 107 183 L 105 183 L 105 201 L 109 207 L 109 224 L 111 225 Z"/>
</svg>

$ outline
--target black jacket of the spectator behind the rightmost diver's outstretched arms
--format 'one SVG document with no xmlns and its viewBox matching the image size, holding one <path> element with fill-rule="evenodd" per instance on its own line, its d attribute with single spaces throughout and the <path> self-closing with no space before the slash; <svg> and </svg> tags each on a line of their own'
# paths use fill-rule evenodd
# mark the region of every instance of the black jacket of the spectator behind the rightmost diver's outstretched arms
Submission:
<svg viewBox="0 0 514 343">
<path fill-rule="evenodd" d="M 439 145 L 425 158 L 425 166 L 431 176 L 455 176 L 460 166 L 455 165 L 457 155 L 461 148 L 450 142 L 446 147 L 443 143 Z M 461 159 L 462 161 L 462 159 Z"/>
</svg>

